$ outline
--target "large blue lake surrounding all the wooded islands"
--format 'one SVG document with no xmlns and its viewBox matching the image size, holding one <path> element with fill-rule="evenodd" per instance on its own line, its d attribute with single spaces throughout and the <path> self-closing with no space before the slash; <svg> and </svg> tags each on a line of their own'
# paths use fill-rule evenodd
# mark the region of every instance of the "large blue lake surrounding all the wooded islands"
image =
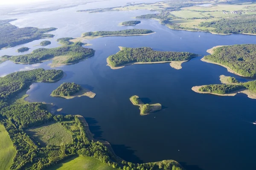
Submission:
<svg viewBox="0 0 256 170">
<path fill-rule="evenodd" d="M 226 68 L 202 62 L 194 58 L 182 65 L 181 70 L 171 68 L 169 63 L 152 65 L 129 65 L 112 70 L 106 66 L 106 58 L 119 51 L 118 46 L 151 47 L 160 51 L 187 51 L 207 55 L 207 49 L 216 45 L 256 43 L 251 35 L 215 35 L 206 32 L 171 30 L 155 20 L 141 20 L 137 26 L 118 26 L 141 14 L 152 11 L 109 11 L 105 13 L 76 10 L 104 6 L 90 3 L 57 11 L 0 16 L 1 19 L 17 18 L 12 24 L 19 27 L 56 27 L 54 38 L 46 48 L 60 46 L 55 40 L 61 37 L 80 37 L 87 31 L 112 31 L 128 28 L 144 28 L 155 34 L 137 37 L 103 37 L 85 42 L 96 50 L 93 57 L 74 65 L 61 66 L 67 76 L 55 83 L 34 83 L 27 91 L 31 102 L 49 102 L 60 113 L 80 114 L 89 123 L 97 139 L 111 143 L 116 155 L 134 163 L 174 159 L 186 170 L 253 170 L 256 162 L 256 100 L 245 94 L 214 96 L 198 94 L 191 90 L 195 85 L 220 84 L 219 76 L 243 77 L 227 72 Z M 124 5 L 116 1 L 115 6 Z M 109 5 L 109 3 L 108 3 Z M 200 35 L 200 37 L 199 37 Z M 18 45 L 0 51 L 0 56 L 18 55 L 17 48 L 33 49 L 42 40 Z M 34 68 L 52 69 L 51 61 L 17 65 L 12 62 L 0 64 L 0 76 L 15 71 Z M 51 92 L 63 82 L 76 82 L 96 93 L 96 97 L 62 99 L 51 97 Z M 160 103 L 163 110 L 140 116 L 137 106 L 129 97 L 138 95 L 147 103 Z"/>
</svg>

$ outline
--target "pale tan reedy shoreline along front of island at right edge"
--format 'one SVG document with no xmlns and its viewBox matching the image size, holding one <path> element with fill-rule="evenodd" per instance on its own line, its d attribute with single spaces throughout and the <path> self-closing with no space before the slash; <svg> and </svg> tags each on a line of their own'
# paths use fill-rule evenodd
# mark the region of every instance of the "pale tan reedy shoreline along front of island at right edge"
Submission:
<svg viewBox="0 0 256 170">
<path fill-rule="evenodd" d="M 205 86 L 205 85 L 194 86 L 191 88 L 191 90 L 195 91 L 196 93 L 199 93 L 199 94 L 212 94 L 212 95 L 216 95 L 216 96 L 236 96 L 236 94 L 242 93 L 242 94 L 246 94 L 247 97 L 249 97 L 250 99 L 256 99 L 256 93 L 248 90 L 247 88 L 242 88 L 240 90 L 233 91 L 228 94 L 216 94 L 216 93 L 211 93 L 211 92 L 206 92 L 206 91 L 199 91 L 199 89 L 203 86 Z"/>
</svg>

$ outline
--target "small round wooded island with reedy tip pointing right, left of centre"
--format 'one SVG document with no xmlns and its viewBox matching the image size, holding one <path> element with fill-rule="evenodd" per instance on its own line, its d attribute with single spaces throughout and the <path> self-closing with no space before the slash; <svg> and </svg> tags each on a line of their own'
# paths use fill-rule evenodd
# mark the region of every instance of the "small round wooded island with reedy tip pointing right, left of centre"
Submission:
<svg viewBox="0 0 256 170">
<path fill-rule="evenodd" d="M 63 97 L 65 99 L 73 99 L 75 97 L 87 96 L 95 97 L 95 93 L 83 88 L 74 82 L 64 82 L 57 89 L 52 91 L 52 97 Z"/>
</svg>

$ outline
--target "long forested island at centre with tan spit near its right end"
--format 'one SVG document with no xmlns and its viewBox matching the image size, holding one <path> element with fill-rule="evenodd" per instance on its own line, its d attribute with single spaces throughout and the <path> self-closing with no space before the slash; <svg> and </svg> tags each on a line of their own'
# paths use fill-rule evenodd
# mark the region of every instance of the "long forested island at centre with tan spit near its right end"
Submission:
<svg viewBox="0 0 256 170">
<path fill-rule="evenodd" d="M 154 51 L 149 47 L 119 48 L 119 52 L 107 58 L 108 66 L 112 69 L 123 68 L 125 65 L 131 64 L 152 64 L 163 62 L 171 62 L 171 67 L 180 69 L 182 62 L 188 61 L 193 57 L 197 57 L 196 54 L 188 52 Z"/>
</svg>

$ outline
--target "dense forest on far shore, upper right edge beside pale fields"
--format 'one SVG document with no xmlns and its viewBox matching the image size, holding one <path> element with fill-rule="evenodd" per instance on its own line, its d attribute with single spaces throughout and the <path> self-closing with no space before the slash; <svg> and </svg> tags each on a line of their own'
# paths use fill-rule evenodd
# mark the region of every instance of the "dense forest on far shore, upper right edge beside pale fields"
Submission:
<svg viewBox="0 0 256 170">
<path fill-rule="evenodd" d="M 200 23 L 199 26 L 216 28 L 211 31 L 221 34 L 256 34 L 256 15 L 242 15 L 232 18 L 223 18 L 217 21 Z"/>
</svg>

